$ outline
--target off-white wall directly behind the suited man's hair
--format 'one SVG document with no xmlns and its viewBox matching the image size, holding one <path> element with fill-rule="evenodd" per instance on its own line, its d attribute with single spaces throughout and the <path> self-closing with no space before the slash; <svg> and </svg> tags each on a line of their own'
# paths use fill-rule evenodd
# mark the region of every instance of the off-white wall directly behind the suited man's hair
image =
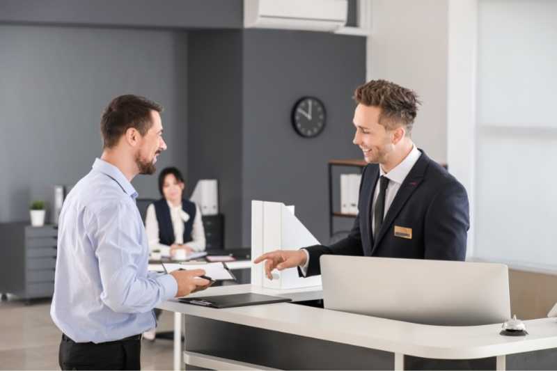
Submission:
<svg viewBox="0 0 557 371">
<path fill-rule="evenodd" d="M 448 4 L 443 0 L 371 2 L 367 79 L 387 79 L 420 95 L 423 106 L 413 139 L 432 159 L 446 162 Z"/>
</svg>

